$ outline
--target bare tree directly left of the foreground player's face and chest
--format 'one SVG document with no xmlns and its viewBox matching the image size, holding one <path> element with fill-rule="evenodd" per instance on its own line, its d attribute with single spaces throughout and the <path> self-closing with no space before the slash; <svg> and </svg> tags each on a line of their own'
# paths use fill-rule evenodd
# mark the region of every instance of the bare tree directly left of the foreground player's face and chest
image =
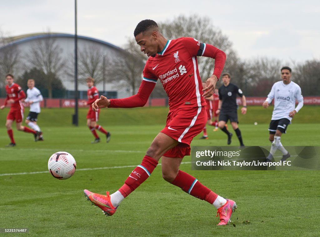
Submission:
<svg viewBox="0 0 320 237">
<path fill-rule="evenodd" d="M 110 64 L 108 81 L 114 83 L 117 88 L 129 87 L 134 95 L 140 86 L 146 59 L 135 40 L 128 40 L 124 45 L 124 51 Z"/>
</svg>

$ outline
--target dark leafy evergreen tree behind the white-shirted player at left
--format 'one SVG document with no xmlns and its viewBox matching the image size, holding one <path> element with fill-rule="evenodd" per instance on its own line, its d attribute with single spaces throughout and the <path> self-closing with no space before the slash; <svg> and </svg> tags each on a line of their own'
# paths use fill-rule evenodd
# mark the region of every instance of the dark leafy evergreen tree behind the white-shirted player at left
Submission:
<svg viewBox="0 0 320 237">
<path fill-rule="evenodd" d="M 64 88 L 61 80 L 57 78 L 56 75 L 52 75 L 52 97 L 54 98 L 61 98 L 65 96 L 66 89 Z M 29 71 L 25 71 L 22 76 L 17 79 L 17 83 L 22 87 L 22 89 L 26 92 L 27 81 L 28 79 L 35 80 L 35 86 L 41 91 L 43 97 L 48 97 L 48 82 L 46 81 L 48 77 L 39 69 L 32 68 Z"/>
</svg>

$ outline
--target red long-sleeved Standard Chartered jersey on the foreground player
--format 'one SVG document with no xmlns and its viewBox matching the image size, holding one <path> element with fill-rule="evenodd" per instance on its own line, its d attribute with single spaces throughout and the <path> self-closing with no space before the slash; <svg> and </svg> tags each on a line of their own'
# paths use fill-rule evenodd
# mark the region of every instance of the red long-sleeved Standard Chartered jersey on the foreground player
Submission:
<svg viewBox="0 0 320 237">
<path fill-rule="evenodd" d="M 197 56 L 214 58 L 213 74 L 220 77 L 226 60 L 223 51 L 193 38 L 168 40 L 161 52 L 155 57 L 148 58 L 137 95 L 124 99 L 111 99 L 109 107 L 144 106 L 157 80 L 161 82 L 169 97 L 170 111 L 205 105 Z"/>
</svg>

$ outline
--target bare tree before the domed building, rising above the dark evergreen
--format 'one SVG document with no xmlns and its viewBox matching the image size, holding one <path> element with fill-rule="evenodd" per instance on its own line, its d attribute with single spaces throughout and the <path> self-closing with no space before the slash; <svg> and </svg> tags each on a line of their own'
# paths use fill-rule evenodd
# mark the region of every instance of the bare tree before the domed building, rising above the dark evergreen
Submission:
<svg viewBox="0 0 320 237">
<path fill-rule="evenodd" d="M 60 56 L 62 49 L 50 33 L 47 37 L 37 40 L 30 49 L 30 64 L 43 72 L 47 77 L 48 96 L 52 98 L 52 83 L 55 75 L 63 70 L 65 61 Z"/>
</svg>

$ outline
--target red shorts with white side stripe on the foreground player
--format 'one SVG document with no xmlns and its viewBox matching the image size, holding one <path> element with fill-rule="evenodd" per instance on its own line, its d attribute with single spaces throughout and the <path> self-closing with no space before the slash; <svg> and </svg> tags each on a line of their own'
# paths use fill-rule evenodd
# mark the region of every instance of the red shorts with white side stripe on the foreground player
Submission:
<svg viewBox="0 0 320 237">
<path fill-rule="evenodd" d="M 167 123 L 161 133 L 172 137 L 180 143 L 164 153 L 165 157 L 179 157 L 190 155 L 192 139 L 201 133 L 207 122 L 207 113 L 202 107 L 180 108 L 169 112 Z"/>
</svg>

